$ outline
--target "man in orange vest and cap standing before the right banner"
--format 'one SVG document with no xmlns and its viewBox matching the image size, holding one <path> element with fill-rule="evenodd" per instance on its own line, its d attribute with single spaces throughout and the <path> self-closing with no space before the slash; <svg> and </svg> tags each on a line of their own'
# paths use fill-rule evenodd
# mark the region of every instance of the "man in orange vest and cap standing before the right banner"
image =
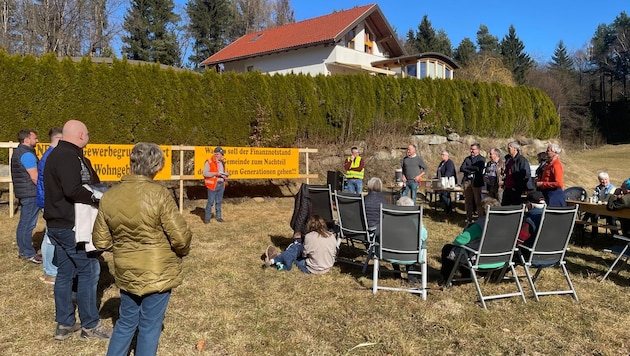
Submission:
<svg viewBox="0 0 630 356">
<path fill-rule="evenodd" d="M 214 154 L 203 165 L 203 176 L 206 188 L 208 188 L 208 202 L 206 203 L 206 215 L 204 223 L 210 223 L 212 218 L 212 205 L 216 203 L 214 217 L 218 222 L 223 222 L 221 215 L 221 203 L 223 202 L 223 192 L 225 191 L 228 174 L 223 163 L 225 151 L 221 146 L 214 149 Z"/>
</svg>

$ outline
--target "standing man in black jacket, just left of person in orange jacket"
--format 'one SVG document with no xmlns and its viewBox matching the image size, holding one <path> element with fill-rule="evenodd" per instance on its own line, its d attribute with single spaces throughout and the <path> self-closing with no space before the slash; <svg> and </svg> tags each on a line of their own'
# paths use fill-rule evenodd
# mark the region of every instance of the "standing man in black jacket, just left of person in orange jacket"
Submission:
<svg viewBox="0 0 630 356">
<path fill-rule="evenodd" d="M 531 178 L 529 162 L 521 155 L 521 146 L 516 141 L 508 143 L 508 152 L 501 205 L 521 205 L 521 195 L 527 190 L 527 182 Z"/>
</svg>

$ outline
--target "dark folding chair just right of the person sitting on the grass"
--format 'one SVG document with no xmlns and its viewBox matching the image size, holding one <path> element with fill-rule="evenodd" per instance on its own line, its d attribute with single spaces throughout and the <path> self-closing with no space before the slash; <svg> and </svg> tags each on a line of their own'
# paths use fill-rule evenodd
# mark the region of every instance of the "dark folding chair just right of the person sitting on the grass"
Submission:
<svg viewBox="0 0 630 356">
<path fill-rule="evenodd" d="M 366 253 L 365 263 L 340 257 L 337 257 L 337 261 L 362 265 L 362 272 L 365 274 L 374 251 L 374 231 L 370 231 L 367 225 L 363 196 L 337 191 L 335 204 L 339 223 L 339 243 L 345 242 L 348 249 L 351 246 L 364 248 Z"/>
</svg>

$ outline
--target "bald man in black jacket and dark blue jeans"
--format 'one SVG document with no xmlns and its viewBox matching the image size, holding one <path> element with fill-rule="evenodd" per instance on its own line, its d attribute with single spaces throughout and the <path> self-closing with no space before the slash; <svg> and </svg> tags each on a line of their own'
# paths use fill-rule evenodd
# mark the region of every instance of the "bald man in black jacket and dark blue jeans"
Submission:
<svg viewBox="0 0 630 356">
<path fill-rule="evenodd" d="M 63 126 L 62 138 L 50 153 L 44 167 L 44 219 L 48 235 L 55 245 L 57 278 L 55 280 L 56 340 L 65 340 L 81 331 L 83 339 L 109 339 L 111 328 L 98 315 L 96 286 L 100 265 L 96 255 L 85 251 L 85 243 L 75 240 L 74 204 L 98 204 L 84 184 L 100 180 L 83 148 L 90 140 L 84 123 L 70 120 Z M 77 323 L 72 302 L 72 284 L 77 281 Z"/>
</svg>

